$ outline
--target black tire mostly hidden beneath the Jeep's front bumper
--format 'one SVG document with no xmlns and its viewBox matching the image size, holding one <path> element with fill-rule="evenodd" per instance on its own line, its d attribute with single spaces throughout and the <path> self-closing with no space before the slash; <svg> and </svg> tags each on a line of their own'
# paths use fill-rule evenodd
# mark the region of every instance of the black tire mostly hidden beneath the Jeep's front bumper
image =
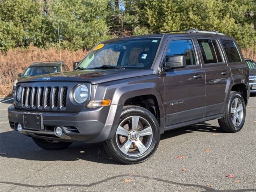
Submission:
<svg viewBox="0 0 256 192">
<path fill-rule="evenodd" d="M 36 137 L 32 137 L 32 139 L 38 146 L 46 150 L 61 150 L 61 149 L 67 148 L 72 144 L 72 142 L 63 142 L 63 141 L 54 142 L 54 141 L 50 141 L 50 140 L 48 141 L 48 140 L 40 139 Z"/>
</svg>

